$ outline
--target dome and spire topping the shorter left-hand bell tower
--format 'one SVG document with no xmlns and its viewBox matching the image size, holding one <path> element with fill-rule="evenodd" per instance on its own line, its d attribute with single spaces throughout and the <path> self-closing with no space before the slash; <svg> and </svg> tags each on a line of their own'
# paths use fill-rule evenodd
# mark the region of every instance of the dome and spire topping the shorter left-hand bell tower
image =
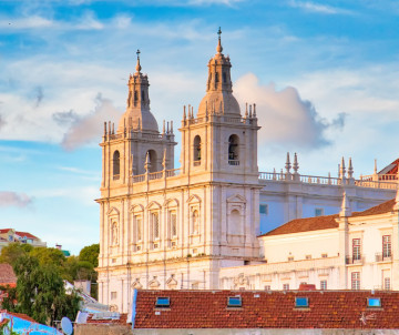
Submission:
<svg viewBox="0 0 399 335">
<path fill-rule="evenodd" d="M 129 97 L 126 111 L 122 115 L 117 132 L 124 128 L 158 133 L 158 125 L 150 111 L 149 78 L 141 72 L 140 50 L 137 50 L 136 72 L 129 78 Z"/>
</svg>

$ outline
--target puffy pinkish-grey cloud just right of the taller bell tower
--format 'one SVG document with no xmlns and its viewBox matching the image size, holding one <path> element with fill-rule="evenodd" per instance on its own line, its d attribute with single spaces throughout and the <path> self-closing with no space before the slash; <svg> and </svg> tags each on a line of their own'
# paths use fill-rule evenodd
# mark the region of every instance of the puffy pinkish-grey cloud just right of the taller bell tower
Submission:
<svg viewBox="0 0 399 335">
<path fill-rule="evenodd" d="M 320 148 L 330 144 L 326 138 L 327 129 L 344 126 L 344 114 L 328 122 L 309 101 L 299 97 L 295 88 L 277 91 L 273 83 L 260 85 L 252 73 L 237 80 L 235 93 L 242 102 L 256 102 L 258 123 L 262 125 L 258 133 L 260 143 Z"/>
</svg>

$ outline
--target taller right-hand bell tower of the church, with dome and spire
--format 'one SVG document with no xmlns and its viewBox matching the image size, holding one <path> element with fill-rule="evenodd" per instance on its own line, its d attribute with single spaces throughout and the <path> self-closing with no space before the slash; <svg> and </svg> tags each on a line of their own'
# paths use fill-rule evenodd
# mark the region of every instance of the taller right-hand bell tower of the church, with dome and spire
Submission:
<svg viewBox="0 0 399 335">
<path fill-rule="evenodd" d="M 206 94 L 196 118 L 184 106 L 182 121 L 183 173 L 212 174 L 214 180 L 258 183 L 256 105 L 246 105 L 242 115 L 233 95 L 231 59 L 222 53 L 218 30 L 216 54 L 208 61 Z"/>
</svg>

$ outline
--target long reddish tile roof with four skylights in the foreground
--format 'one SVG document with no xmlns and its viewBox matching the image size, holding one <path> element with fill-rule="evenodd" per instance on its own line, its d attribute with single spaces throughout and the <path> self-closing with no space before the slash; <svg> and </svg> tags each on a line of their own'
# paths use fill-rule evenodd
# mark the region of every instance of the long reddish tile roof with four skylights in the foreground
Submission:
<svg viewBox="0 0 399 335">
<path fill-rule="evenodd" d="M 242 307 L 227 307 L 228 296 Z M 157 296 L 170 308 L 155 308 Z M 296 308 L 295 297 L 308 297 Z M 370 291 L 139 291 L 134 328 L 399 328 L 399 292 L 376 292 L 382 308 L 368 308 Z"/>
</svg>

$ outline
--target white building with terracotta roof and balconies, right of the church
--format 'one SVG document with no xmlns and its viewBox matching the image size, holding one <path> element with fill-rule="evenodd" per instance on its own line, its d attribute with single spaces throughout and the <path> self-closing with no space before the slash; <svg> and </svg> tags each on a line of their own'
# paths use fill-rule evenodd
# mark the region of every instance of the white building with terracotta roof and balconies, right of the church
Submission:
<svg viewBox="0 0 399 335">
<path fill-rule="evenodd" d="M 351 213 L 293 220 L 259 236 L 264 264 L 221 270 L 221 288 L 399 290 L 399 192 Z"/>
</svg>

